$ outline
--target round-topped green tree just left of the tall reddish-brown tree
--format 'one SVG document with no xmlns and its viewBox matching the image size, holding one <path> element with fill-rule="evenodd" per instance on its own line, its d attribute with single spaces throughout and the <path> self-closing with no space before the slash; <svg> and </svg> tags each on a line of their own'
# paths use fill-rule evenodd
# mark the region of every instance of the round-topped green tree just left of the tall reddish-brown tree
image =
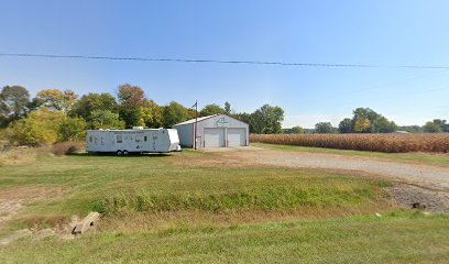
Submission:
<svg viewBox="0 0 449 264">
<path fill-rule="evenodd" d="M 108 92 L 88 94 L 74 103 L 69 111 L 69 116 L 81 117 L 89 122 L 91 113 L 99 110 L 108 110 L 112 113 L 119 113 L 119 105 L 117 103 L 116 98 Z"/>
</svg>

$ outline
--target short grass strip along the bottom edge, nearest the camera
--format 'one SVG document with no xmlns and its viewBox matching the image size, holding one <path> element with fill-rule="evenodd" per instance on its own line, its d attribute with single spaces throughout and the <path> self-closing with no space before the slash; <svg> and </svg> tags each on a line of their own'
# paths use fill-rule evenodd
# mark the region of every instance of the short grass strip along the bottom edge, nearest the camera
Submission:
<svg viewBox="0 0 449 264">
<path fill-rule="evenodd" d="M 102 232 L 73 241 L 23 239 L 0 248 L 0 262 L 446 263 L 448 220 L 399 213 L 155 233 Z"/>
</svg>

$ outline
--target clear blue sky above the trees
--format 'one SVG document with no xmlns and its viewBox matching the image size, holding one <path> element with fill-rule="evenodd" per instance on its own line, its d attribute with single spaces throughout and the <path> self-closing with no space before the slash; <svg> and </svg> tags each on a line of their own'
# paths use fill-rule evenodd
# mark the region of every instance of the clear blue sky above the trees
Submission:
<svg viewBox="0 0 449 264">
<path fill-rule="evenodd" d="M 370 64 L 382 67 L 125 62 L 0 56 L 0 87 L 117 92 L 160 105 L 264 103 L 284 128 L 338 125 L 358 107 L 398 124 L 449 119 L 449 1 L 0 1 L 0 53 Z"/>
</svg>

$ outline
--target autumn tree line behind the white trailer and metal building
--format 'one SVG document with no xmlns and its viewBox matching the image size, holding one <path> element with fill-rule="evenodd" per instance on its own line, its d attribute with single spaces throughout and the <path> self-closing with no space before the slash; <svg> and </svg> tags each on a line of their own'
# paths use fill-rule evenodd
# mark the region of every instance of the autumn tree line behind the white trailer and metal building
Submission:
<svg viewBox="0 0 449 264">
<path fill-rule="evenodd" d="M 130 84 L 120 85 L 116 96 L 90 92 L 79 97 L 72 90 L 44 89 L 31 98 L 22 86 L 6 86 L 0 92 L 0 128 L 19 144 L 83 141 L 89 129 L 172 128 L 197 114 L 229 114 L 249 123 L 252 133 L 281 133 L 284 120 L 284 111 L 270 105 L 252 113 L 238 113 L 229 102 L 207 105 L 198 113 L 176 101 L 160 106 Z"/>
</svg>

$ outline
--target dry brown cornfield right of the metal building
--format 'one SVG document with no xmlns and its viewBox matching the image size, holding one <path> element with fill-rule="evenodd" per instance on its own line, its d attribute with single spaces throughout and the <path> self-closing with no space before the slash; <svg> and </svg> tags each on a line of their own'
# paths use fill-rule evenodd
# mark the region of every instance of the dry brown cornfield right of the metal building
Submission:
<svg viewBox="0 0 449 264">
<path fill-rule="evenodd" d="M 449 152 L 449 134 L 251 134 L 251 142 L 372 152 Z"/>
</svg>

